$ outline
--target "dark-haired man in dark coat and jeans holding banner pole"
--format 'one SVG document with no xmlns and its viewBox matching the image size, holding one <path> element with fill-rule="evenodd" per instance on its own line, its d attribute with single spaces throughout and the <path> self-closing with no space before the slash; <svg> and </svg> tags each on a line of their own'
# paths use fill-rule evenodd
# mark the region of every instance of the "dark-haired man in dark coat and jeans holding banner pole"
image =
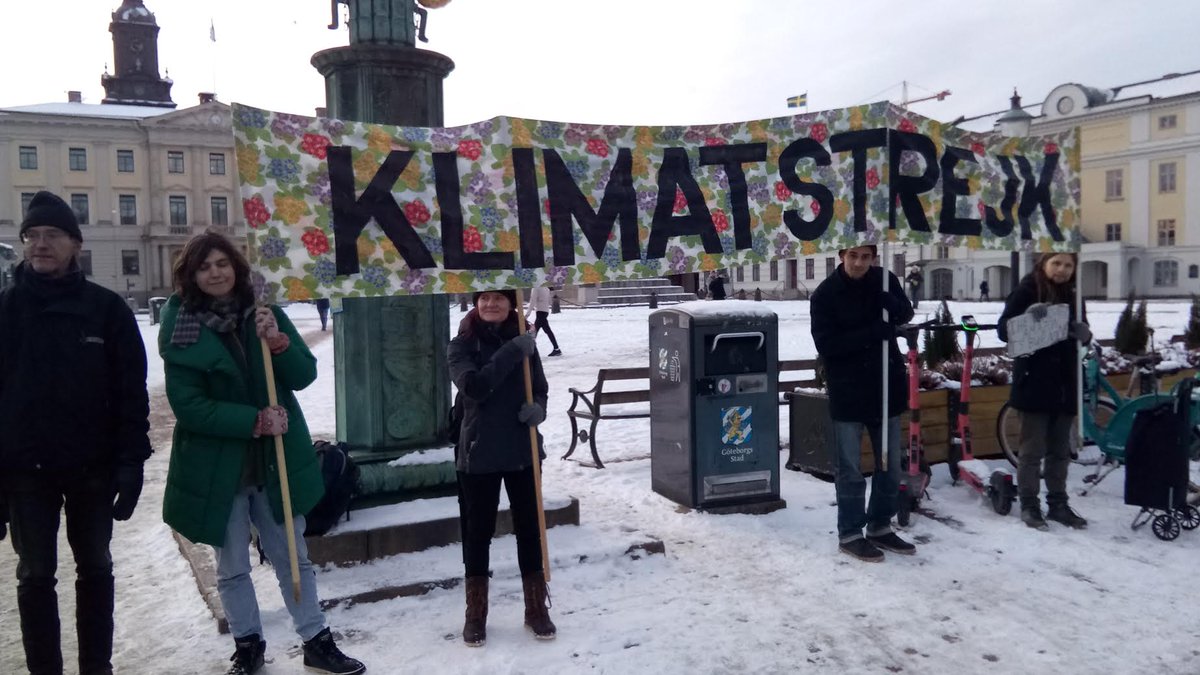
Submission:
<svg viewBox="0 0 1200 675">
<path fill-rule="evenodd" d="M 824 363 L 829 393 L 834 483 L 838 491 L 839 549 L 859 560 L 880 562 L 883 550 L 912 555 L 916 548 L 892 531 L 900 489 L 900 413 L 906 406 L 905 365 L 896 347 L 896 327 L 912 319 L 900 280 L 874 267 L 875 246 L 838 251 L 841 264 L 812 293 L 812 340 Z M 883 277 L 888 275 L 888 291 Z M 883 310 L 888 318 L 883 319 Z M 880 471 L 883 345 L 888 345 L 888 456 Z M 875 449 L 871 500 L 864 509 L 866 479 L 859 462 L 863 429 Z M 863 536 L 863 528 L 866 536 Z"/>
</svg>

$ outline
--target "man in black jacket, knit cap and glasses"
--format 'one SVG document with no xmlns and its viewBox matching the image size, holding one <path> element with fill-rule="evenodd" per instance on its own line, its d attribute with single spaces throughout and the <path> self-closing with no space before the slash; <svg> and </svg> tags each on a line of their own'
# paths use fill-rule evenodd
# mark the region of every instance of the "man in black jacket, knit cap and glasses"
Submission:
<svg viewBox="0 0 1200 675">
<path fill-rule="evenodd" d="M 56 543 L 74 555 L 79 671 L 112 673 L 113 520 L 133 514 L 150 456 L 146 356 L 133 313 L 86 279 L 74 211 L 38 192 L 20 225 L 25 259 L 0 293 L 0 489 L 18 556 L 30 673 L 62 673 Z"/>
</svg>

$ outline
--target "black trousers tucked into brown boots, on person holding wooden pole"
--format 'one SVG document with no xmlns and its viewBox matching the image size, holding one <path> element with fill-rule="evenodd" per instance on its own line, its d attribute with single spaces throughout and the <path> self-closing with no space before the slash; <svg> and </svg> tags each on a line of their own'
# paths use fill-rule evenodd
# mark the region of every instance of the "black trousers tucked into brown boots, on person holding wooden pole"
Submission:
<svg viewBox="0 0 1200 675">
<path fill-rule="evenodd" d="M 467 577 L 488 572 L 496 514 L 500 503 L 500 483 L 509 494 L 512 530 L 517 537 L 517 565 L 521 574 L 541 572 L 541 533 L 538 526 L 538 495 L 533 467 L 500 473 L 458 472 L 462 500 L 462 551 Z"/>
</svg>

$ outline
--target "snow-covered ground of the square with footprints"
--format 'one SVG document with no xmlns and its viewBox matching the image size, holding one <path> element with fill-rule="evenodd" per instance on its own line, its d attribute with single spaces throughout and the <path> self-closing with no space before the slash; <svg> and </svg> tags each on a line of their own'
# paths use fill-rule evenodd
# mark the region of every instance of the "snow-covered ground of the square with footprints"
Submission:
<svg viewBox="0 0 1200 675">
<path fill-rule="evenodd" d="M 806 303 L 767 303 L 780 317 L 780 358 L 815 356 Z M 1112 335 L 1120 303 L 1090 303 L 1098 336 Z M 954 303 L 952 311 L 994 319 L 1001 303 Z M 918 317 L 931 311 L 922 305 Z M 1181 333 L 1187 303 L 1152 303 L 1160 338 Z M 301 393 L 314 437 L 332 437 L 334 354 L 311 305 L 289 307 L 320 362 Z M 570 442 L 568 387 L 589 388 L 602 366 L 646 365 L 646 307 L 568 310 L 551 323 L 564 356 L 545 359 L 551 383 L 542 426 L 551 459 L 548 498 L 580 500 L 582 525 L 553 528 L 551 584 L 558 639 L 538 643 L 522 628 L 520 579 L 511 537 L 493 544 L 496 579 L 488 640 L 462 645 L 462 590 L 360 604 L 328 613 L 344 650 L 374 674 L 408 673 L 1200 673 L 1200 604 L 1195 598 L 1200 531 L 1160 542 L 1130 531 L 1136 508 L 1123 504 L 1117 471 L 1073 504 L 1086 531 L 1037 532 L 1015 513 L 996 515 L 944 466 L 934 471 L 926 506 L 906 536 L 918 555 L 868 565 L 836 552 L 833 486 L 784 471 L 787 508 L 769 515 L 712 515 L 650 490 L 647 459 L 604 471 L 558 461 Z M 461 315 L 451 310 L 451 322 Z M 232 640 L 217 633 L 187 565 L 161 520 L 162 484 L 173 418 L 162 394 L 157 327 L 140 317 L 150 359 L 152 441 L 146 486 L 133 519 L 118 522 L 119 673 L 223 673 Z M 542 353 L 548 341 L 541 340 Z M 994 334 L 982 346 L 998 346 Z M 786 408 L 780 432 L 787 438 Z M 646 419 L 601 422 L 605 460 L 648 453 Z M 581 450 L 586 453 L 584 450 Z M 781 458 L 786 459 L 786 455 Z M 1002 466 L 1001 462 L 989 462 Z M 1084 466 L 1073 466 L 1072 490 Z M 610 555 L 646 538 L 666 555 Z M 60 546 L 60 604 L 68 671 L 74 667 L 73 571 Z M 580 562 L 580 552 L 590 551 Z M 460 549 L 396 556 L 318 580 L 324 595 L 370 586 L 377 578 L 454 569 Z M 16 556 L 0 545 L 0 673 L 24 671 L 13 581 Z M 264 609 L 266 671 L 300 673 L 299 640 L 268 568 L 256 571 Z"/>
</svg>

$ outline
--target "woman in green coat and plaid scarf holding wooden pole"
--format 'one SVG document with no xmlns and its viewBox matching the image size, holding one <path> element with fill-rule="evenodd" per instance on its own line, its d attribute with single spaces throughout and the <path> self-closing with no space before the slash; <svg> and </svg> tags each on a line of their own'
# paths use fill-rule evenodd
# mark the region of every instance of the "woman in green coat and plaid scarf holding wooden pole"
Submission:
<svg viewBox="0 0 1200 675">
<path fill-rule="evenodd" d="M 323 483 L 312 438 L 293 392 L 317 378 L 317 359 L 287 315 L 254 307 L 250 264 L 224 237 L 197 235 L 174 268 L 175 294 L 163 309 L 158 353 L 175 435 L 163 520 L 216 550 L 217 591 L 234 635 L 230 675 L 263 667 L 266 643 L 250 577 L 251 527 L 275 567 L 283 601 L 304 640 L 304 663 L 318 673 L 358 674 L 325 627 L 304 542 L 304 514 Z M 278 405 L 268 404 L 260 339 L 271 353 Z M 283 437 L 300 562 L 294 601 L 275 440 Z"/>
</svg>

